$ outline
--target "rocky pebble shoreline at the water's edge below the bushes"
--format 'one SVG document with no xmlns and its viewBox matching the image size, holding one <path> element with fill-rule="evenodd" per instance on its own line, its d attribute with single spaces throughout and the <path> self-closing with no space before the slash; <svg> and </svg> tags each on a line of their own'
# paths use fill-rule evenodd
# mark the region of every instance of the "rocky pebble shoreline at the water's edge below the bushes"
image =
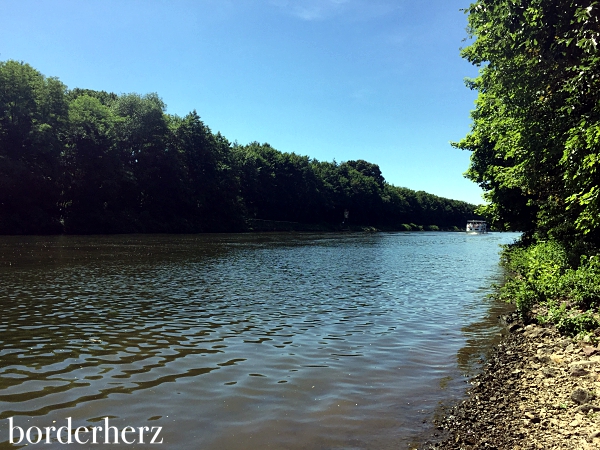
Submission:
<svg viewBox="0 0 600 450">
<path fill-rule="evenodd" d="M 600 449 L 600 349 L 513 322 L 422 449 Z"/>
</svg>

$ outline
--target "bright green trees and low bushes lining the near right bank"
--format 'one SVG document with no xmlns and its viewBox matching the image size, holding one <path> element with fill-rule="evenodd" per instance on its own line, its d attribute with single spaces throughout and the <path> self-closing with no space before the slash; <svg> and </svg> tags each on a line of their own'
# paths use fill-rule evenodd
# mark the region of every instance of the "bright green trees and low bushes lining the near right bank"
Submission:
<svg viewBox="0 0 600 450">
<path fill-rule="evenodd" d="M 499 228 L 524 231 L 501 289 L 532 320 L 600 326 L 600 4 L 477 0 L 467 9 L 481 67 L 468 177 Z M 600 330 L 598 330 L 600 332 Z"/>
</svg>

